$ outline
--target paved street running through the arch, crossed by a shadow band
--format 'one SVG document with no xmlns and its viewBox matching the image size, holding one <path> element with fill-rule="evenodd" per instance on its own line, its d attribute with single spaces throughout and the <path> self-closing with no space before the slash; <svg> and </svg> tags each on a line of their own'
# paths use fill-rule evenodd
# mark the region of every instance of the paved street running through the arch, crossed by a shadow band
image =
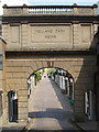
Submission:
<svg viewBox="0 0 99 132">
<path fill-rule="evenodd" d="M 73 109 L 66 95 L 45 77 L 33 90 L 29 105 L 29 130 L 75 130 Z"/>
</svg>

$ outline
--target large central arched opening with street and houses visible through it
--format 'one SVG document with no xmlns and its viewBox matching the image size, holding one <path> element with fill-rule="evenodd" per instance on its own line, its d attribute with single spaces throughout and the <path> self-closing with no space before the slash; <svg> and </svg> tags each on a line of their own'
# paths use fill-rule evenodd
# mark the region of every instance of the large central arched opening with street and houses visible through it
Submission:
<svg viewBox="0 0 99 132">
<path fill-rule="evenodd" d="M 74 118 L 74 78 L 72 75 L 61 68 L 42 68 L 30 76 L 28 86 L 29 118 L 34 121 L 33 128 L 69 128 L 65 124 Z M 52 125 L 51 122 L 54 124 Z"/>
</svg>

